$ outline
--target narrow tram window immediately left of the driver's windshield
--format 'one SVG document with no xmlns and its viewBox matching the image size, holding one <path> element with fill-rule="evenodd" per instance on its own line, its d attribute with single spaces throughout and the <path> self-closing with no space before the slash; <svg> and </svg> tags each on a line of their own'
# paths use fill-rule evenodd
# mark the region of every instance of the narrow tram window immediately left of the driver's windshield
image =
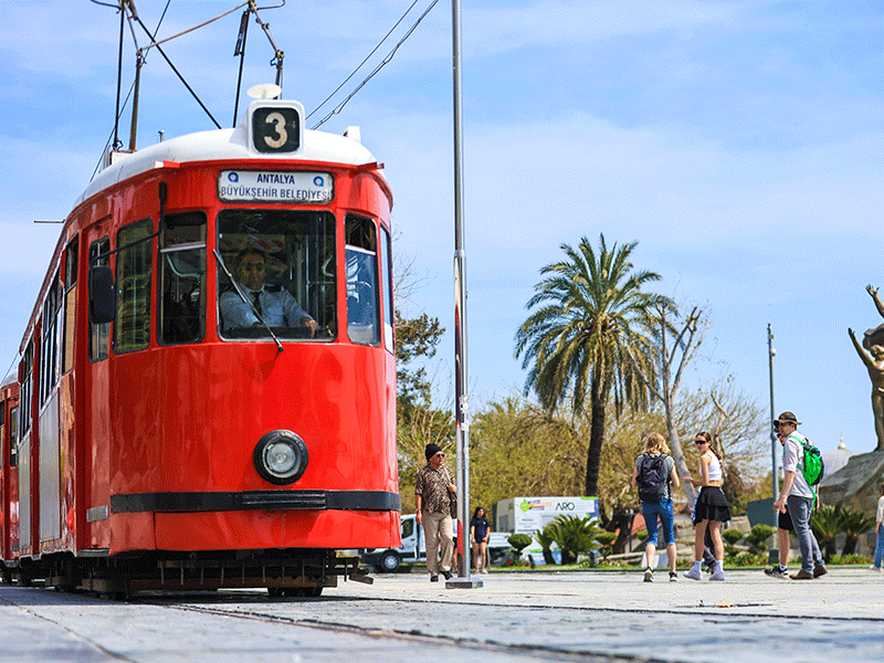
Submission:
<svg viewBox="0 0 884 663">
<path fill-rule="evenodd" d="M 200 340 L 206 333 L 206 214 L 165 218 L 159 263 L 160 343 Z"/>
</svg>

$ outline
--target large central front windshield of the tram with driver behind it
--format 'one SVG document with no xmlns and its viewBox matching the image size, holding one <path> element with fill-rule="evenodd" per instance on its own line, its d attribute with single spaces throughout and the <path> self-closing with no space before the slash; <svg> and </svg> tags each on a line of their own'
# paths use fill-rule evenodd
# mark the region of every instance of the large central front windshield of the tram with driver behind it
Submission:
<svg viewBox="0 0 884 663">
<path fill-rule="evenodd" d="M 219 333 L 225 339 L 329 340 L 337 334 L 335 217 L 293 210 L 218 215 Z"/>
</svg>

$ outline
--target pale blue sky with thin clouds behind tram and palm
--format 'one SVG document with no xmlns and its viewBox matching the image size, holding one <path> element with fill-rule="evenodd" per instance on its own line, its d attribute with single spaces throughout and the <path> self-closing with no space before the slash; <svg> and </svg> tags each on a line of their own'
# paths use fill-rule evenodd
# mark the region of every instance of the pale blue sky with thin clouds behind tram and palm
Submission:
<svg viewBox="0 0 884 663">
<path fill-rule="evenodd" d="M 285 52 L 284 96 L 330 94 L 410 0 L 288 0 L 265 10 Z M 234 0 L 171 0 L 168 36 Z M 335 103 L 392 50 L 414 10 Z M 138 0 L 157 24 L 166 0 Z M 522 389 L 514 335 L 562 243 L 638 240 L 661 292 L 706 308 L 704 358 L 684 388 L 730 376 L 823 451 L 875 446 L 865 368 L 846 334 L 884 320 L 884 7 L 880 2 L 463 0 L 465 249 L 473 410 Z M 230 126 L 241 10 L 165 50 Z M 0 361 L 11 365 L 59 228 L 113 129 L 118 14 L 88 0 L 0 0 Z M 145 45 L 144 33 L 138 33 Z M 244 87 L 271 82 L 249 29 Z M 123 78 L 134 75 L 130 38 Z M 440 2 L 392 62 L 323 129 L 361 127 L 393 189 L 396 251 L 419 277 L 408 309 L 453 319 L 451 8 Z M 241 103 L 241 109 L 242 109 Z M 330 107 L 320 110 L 327 112 Z M 148 55 L 138 145 L 213 125 Z M 320 115 L 315 116 L 319 117 Z M 128 107 L 120 136 L 128 139 Z M 309 125 L 312 126 L 312 124 Z M 883 290 L 884 292 L 884 290 Z M 453 341 L 436 381 L 451 396 Z"/>
</svg>

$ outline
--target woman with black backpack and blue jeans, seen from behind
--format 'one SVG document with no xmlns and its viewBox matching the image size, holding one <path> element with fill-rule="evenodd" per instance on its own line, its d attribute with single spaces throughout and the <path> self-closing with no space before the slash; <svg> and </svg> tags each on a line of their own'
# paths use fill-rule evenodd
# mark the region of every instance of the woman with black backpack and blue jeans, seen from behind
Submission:
<svg viewBox="0 0 884 663">
<path fill-rule="evenodd" d="M 675 459 L 670 455 L 666 440 L 660 433 L 651 433 L 644 443 L 644 453 L 635 459 L 632 486 L 639 488 L 642 501 L 642 516 L 648 527 L 648 543 L 644 547 L 644 581 L 654 581 L 654 555 L 656 554 L 657 518 L 663 524 L 663 538 L 666 543 L 666 557 L 670 562 L 670 580 L 678 579 L 675 571 L 675 527 L 672 511 L 672 487 L 678 487 L 678 473 Z"/>
</svg>

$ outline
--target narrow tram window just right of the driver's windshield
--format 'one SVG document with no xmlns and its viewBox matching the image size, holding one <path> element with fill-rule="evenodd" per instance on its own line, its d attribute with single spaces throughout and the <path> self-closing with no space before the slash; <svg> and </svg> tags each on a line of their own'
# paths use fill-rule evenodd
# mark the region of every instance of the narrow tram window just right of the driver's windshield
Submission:
<svg viewBox="0 0 884 663">
<path fill-rule="evenodd" d="M 347 215 L 347 336 L 361 345 L 379 345 L 378 241 L 375 222 Z"/>
</svg>

